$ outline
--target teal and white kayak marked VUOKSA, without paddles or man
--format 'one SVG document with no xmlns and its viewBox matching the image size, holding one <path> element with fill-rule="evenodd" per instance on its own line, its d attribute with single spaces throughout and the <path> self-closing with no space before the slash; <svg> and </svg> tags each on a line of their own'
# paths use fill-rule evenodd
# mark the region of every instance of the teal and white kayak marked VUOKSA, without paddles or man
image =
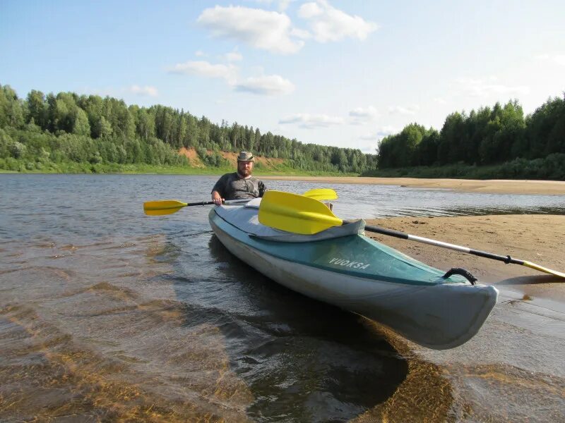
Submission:
<svg viewBox="0 0 565 423">
<path fill-rule="evenodd" d="M 295 236 L 262 226 L 256 213 L 254 207 L 215 207 L 210 225 L 227 250 L 261 274 L 427 348 L 465 343 L 496 304 L 496 288 L 444 278 L 444 271 L 358 233 L 362 224 L 350 233 L 336 228 L 325 239 Z"/>
</svg>

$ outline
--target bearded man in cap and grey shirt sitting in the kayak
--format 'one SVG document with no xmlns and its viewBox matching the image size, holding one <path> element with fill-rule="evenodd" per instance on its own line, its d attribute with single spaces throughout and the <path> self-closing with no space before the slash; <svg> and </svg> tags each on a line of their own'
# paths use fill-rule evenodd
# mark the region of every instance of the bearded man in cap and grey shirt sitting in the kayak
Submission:
<svg viewBox="0 0 565 423">
<path fill-rule="evenodd" d="M 223 175 L 212 189 L 212 201 L 218 206 L 223 200 L 244 200 L 263 197 L 267 190 L 253 173 L 254 157 L 251 152 L 239 152 L 237 172 Z"/>
</svg>

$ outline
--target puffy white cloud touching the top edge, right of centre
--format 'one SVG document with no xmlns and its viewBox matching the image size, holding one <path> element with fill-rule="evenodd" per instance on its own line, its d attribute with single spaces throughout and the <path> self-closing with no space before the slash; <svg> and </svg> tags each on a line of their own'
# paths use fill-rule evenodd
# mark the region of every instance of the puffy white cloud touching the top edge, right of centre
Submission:
<svg viewBox="0 0 565 423">
<path fill-rule="evenodd" d="M 326 0 L 302 4 L 298 16 L 309 21 L 318 42 L 339 41 L 345 37 L 363 40 L 378 27 L 359 16 L 347 15 Z"/>
</svg>

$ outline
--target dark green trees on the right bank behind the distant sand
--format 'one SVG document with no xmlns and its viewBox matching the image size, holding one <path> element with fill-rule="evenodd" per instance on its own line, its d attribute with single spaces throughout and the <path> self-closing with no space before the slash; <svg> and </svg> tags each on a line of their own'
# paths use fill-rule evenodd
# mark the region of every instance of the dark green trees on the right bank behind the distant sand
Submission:
<svg viewBox="0 0 565 423">
<path fill-rule="evenodd" d="M 542 164 L 551 156 L 562 164 L 565 178 L 565 94 L 548 99 L 528 116 L 513 100 L 450 114 L 439 131 L 411 123 L 384 137 L 377 154 L 381 169 L 533 160 Z"/>
</svg>

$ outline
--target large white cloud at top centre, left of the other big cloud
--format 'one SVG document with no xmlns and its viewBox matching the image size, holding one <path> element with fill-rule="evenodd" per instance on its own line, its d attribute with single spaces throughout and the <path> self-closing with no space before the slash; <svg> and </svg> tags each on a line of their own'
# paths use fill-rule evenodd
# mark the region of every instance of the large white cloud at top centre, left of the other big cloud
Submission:
<svg viewBox="0 0 565 423">
<path fill-rule="evenodd" d="M 292 39 L 292 23 L 285 13 L 242 6 L 206 8 L 197 22 L 215 37 L 236 39 L 280 54 L 296 53 L 302 40 Z"/>
</svg>

